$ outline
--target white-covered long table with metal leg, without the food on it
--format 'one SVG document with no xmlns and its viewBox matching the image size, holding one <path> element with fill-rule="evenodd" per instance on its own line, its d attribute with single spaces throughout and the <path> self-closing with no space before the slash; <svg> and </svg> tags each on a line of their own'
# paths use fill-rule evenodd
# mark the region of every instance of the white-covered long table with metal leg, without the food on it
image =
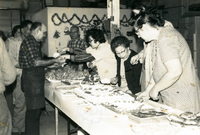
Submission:
<svg viewBox="0 0 200 135">
<path fill-rule="evenodd" d="M 55 89 L 60 85 L 64 84 L 45 83 L 45 97 L 55 105 L 56 135 L 58 135 L 59 123 L 58 109 L 90 135 L 196 135 L 200 133 L 200 127 L 176 127 L 171 125 L 167 119 L 138 123 L 133 119 L 129 119 L 127 115 L 115 113 L 102 105 L 81 106 L 82 98 Z M 157 102 L 147 101 L 145 104 L 166 109 L 168 113 L 181 113 L 179 110 Z"/>
</svg>

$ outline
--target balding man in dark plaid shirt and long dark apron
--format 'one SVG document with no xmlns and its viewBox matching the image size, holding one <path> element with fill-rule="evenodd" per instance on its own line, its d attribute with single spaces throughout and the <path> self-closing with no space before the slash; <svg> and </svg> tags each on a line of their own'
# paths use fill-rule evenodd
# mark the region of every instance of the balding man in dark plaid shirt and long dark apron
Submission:
<svg viewBox="0 0 200 135">
<path fill-rule="evenodd" d="M 46 37 L 46 26 L 34 22 L 31 34 L 22 41 L 19 51 L 19 65 L 22 68 L 21 85 L 26 99 L 25 134 L 39 135 L 41 109 L 45 107 L 44 67 L 64 63 L 61 57 L 50 60 L 42 59 L 40 42 Z"/>
</svg>

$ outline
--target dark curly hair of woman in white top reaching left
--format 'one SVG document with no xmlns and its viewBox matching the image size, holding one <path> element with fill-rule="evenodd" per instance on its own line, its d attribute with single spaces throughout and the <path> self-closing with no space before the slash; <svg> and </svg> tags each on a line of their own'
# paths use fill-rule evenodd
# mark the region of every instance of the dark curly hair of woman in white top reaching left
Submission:
<svg viewBox="0 0 200 135">
<path fill-rule="evenodd" d="M 104 37 L 104 32 L 102 30 L 93 28 L 93 29 L 86 31 L 85 41 L 88 44 L 89 44 L 89 37 L 90 36 L 94 39 L 95 42 L 97 42 L 97 41 L 99 43 L 105 43 L 106 42 L 106 39 Z"/>
</svg>

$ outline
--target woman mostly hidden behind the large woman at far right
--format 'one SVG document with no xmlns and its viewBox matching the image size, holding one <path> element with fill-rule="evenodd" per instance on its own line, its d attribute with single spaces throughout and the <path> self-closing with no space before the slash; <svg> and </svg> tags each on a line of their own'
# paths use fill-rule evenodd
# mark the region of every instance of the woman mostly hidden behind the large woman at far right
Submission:
<svg viewBox="0 0 200 135">
<path fill-rule="evenodd" d="M 153 5 L 146 3 L 145 1 L 137 1 L 133 2 L 131 5 L 132 8 L 132 19 L 135 21 L 141 14 L 144 12 L 153 13 L 157 12 L 157 8 Z M 173 27 L 171 22 L 165 20 L 164 27 Z M 137 31 L 136 31 L 137 32 Z M 138 39 L 143 40 L 143 39 Z M 139 42 L 142 43 L 143 41 Z M 147 85 L 149 84 L 148 80 L 150 78 L 149 74 L 151 74 L 151 63 L 149 63 L 149 59 L 151 56 L 152 46 L 155 41 L 152 42 L 143 42 L 143 50 L 141 50 L 137 55 L 131 58 L 132 64 L 137 64 L 139 61 L 142 63 L 142 71 L 140 76 L 140 84 L 141 84 L 141 91 L 145 91 Z M 148 65 L 148 66 L 147 66 Z"/>
</svg>

